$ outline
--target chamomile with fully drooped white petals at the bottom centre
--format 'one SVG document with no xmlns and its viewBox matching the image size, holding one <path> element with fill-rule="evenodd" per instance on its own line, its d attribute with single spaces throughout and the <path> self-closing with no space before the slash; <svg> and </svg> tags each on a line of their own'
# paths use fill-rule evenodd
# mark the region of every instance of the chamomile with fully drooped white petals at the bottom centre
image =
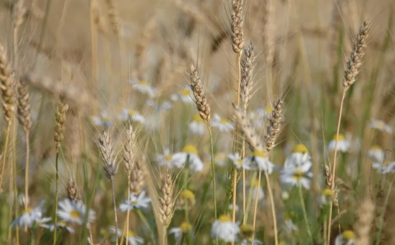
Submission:
<svg viewBox="0 0 395 245">
<path fill-rule="evenodd" d="M 232 222 L 228 215 L 221 215 L 211 227 L 211 236 L 225 242 L 234 242 L 237 239 L 240 228 Z"/>
</svg>

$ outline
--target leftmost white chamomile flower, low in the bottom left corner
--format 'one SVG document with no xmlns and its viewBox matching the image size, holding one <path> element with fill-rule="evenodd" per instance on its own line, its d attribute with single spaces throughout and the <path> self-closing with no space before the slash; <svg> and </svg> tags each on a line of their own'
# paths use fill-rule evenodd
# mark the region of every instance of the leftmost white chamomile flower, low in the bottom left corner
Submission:
<svg viewBox="0 0 395 245">
<path fill-rule="evenodd" d="M 11 222 L 11 226 L 27 226 L 27 227 L 34 227 L 36 225 L 42 226 L 44 223 L 51 220 L 49 217 L 42 217 L 44 210 L 44 201 L 40 202 L 38 206 L 34 208 L 27 208 L 22 210 L 19 217 L 14 219 Z"/>
</svg>

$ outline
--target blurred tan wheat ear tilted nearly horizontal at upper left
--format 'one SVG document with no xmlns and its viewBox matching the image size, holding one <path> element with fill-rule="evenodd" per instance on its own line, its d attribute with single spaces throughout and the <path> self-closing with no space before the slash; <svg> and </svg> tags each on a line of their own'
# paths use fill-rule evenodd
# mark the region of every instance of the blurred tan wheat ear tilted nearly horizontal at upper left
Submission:
<svg viewBox="0 0 395 245">
<path fill-rule="evenodd" d="M 75 105 L 92 105 L 92 100 L 88 93 L 84 89 L 77 88 L 72 84 L 66 85 L 50 78 L 40 79 L 29 75 L 25 76 L 23 80 L 35 88 L 42 89 L 56 96 L 62 96 L 69 103 Z"/>
</svg>

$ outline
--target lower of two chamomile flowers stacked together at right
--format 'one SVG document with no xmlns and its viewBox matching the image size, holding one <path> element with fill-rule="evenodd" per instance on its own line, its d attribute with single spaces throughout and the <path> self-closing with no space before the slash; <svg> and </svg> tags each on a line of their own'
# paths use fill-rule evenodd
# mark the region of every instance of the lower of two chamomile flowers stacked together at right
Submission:
<svg viewBox="0 0 395 245">
<path fill-rule="evenodd" d="M 280 181 L 284 184 L 291 184 L 292 186 L 301 185 L 307 190 L 310 189 L 310 182 L 313 173 L 310 170 L 311 165 L 306 162 L 300 167 L 289 167 L 282 169 Z"/>
</svg>

